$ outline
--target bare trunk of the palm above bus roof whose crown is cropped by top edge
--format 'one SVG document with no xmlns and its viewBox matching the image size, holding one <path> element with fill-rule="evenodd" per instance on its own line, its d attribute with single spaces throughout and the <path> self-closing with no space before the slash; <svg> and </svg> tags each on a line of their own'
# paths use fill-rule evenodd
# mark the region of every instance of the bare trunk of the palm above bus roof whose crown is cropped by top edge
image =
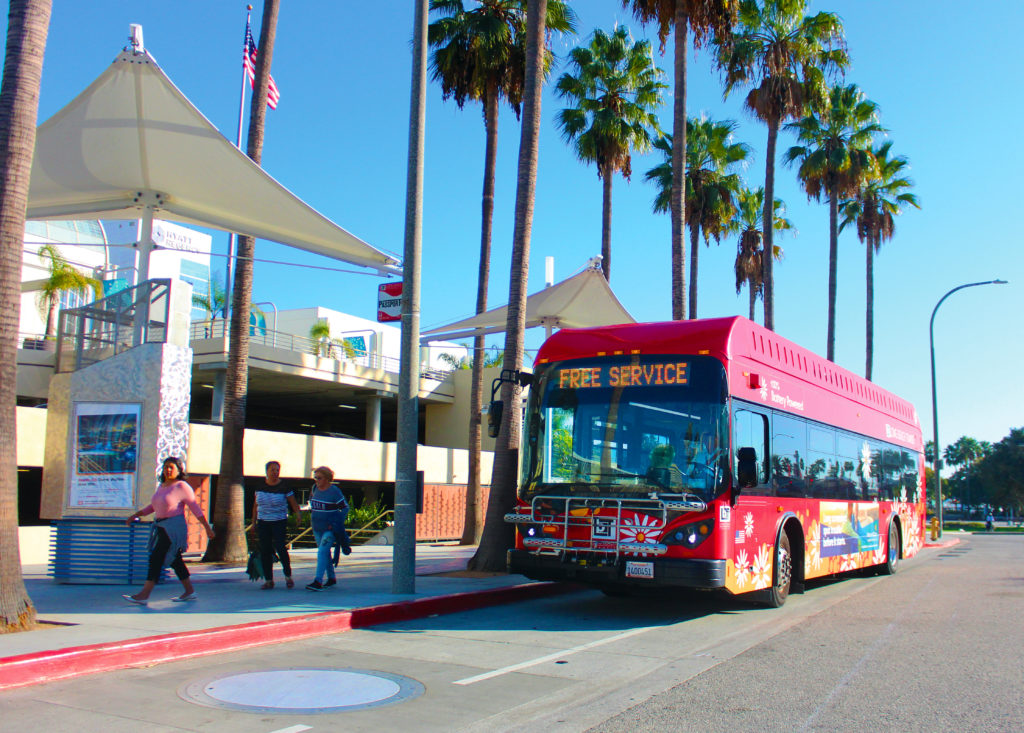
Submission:
<svg viewBox="0 0 1024 733">
<path fill-rule="evenodd" d="M 686 3 L 676 3 L 672 106 L 672 318 L 686 319 Z"/>
</svg>

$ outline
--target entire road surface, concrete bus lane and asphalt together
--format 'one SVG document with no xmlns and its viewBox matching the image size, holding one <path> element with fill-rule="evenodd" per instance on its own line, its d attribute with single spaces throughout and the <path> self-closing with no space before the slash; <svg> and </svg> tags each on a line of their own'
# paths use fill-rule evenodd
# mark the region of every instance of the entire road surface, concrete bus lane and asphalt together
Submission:
<svg viewBox="0 0 1024 733">
<path fill-rule="evenodd" d="M 1024 536 L 967 536 L 781 609 L 581 592 L 12 690 L 0 730 L 1019 731 L 1022 557 Z M 297 670 L 348 677 L 312 693 Z M 368 677 L 402 692 L 294 709 Z M 262 709 L 206 694 L 239 680 Z"/>
</svg>

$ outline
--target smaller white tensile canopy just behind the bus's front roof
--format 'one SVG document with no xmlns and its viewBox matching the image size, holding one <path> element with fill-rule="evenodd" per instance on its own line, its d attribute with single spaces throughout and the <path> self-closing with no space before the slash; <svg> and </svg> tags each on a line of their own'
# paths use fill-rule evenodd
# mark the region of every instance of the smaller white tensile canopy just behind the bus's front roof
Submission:
<svg viewBox="0 0 1024 733">
<path fill-rule="evenodd" d="M 549 286 L 526 298 L 526 328 L 545 327 L 551 336 L 553 329 L 585 329 L 592 326 L 635 324 L 608 281 L 601 272 L 600 257 L 568 279 Z M 505 331 L 508 306 L 493 308 L 479 315 L 457 320 L 430 331 L 424 331 L 423 343 L 461 339 L 468 336 L 497 334 Z"/>
</svg>

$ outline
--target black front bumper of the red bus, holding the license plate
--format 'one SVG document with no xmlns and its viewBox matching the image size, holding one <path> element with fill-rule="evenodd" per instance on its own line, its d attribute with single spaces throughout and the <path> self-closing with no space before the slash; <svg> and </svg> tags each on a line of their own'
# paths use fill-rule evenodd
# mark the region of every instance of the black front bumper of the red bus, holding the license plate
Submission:
<svg viewBox="0 0 1024 733">
<path fill-rule="evenodd" d="M 572 580 L 595 586 L 725 587 L 725 560 L 637 557 L 620 558 L 608 563 L 585 563 L 557 555 L 509 550 L 508 565 L 509 572 L 535 580 Z"/>
</svg>

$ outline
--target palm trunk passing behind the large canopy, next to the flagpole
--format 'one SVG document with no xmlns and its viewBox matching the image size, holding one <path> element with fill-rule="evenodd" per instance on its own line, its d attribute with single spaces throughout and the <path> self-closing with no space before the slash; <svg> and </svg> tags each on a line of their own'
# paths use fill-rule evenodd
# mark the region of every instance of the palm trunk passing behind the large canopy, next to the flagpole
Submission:
<svg viewBox="0 0 1024 733">
<path fill-rule="evenodd" d="M 273 60 L 281 0 L 263 5 L 256 81 L 249 109 L 248 155 L 259 165 L 263 157 L 266 92 Z M 214 494 L 213 528 L 216 535 L 207 546 L 205 561 L 241 562 L 247 555 L 245 535 L 244 437 L 246 399 L 249 392 L 249 304 L 253 292 L 253 255 L 256 241 L 239 236 L 231 291 L 231 325 L 224 381 L 224 423 L 220 443 L 220 472 Z"/>
</svg>

